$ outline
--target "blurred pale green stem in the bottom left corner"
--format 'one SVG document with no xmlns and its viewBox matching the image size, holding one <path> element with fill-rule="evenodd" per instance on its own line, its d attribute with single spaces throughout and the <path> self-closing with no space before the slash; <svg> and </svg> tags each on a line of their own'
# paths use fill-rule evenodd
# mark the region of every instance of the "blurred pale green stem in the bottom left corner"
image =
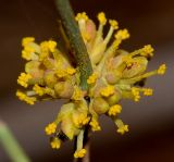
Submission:
<svg viewBox="0 0 174 162">
<path fill-rule="evenodd" d="M 10 128 L 0 121 L 0 144 L 9 154 L 13 162 L 29 162 L 30 160 L 25 154 Z"/>
</svg>

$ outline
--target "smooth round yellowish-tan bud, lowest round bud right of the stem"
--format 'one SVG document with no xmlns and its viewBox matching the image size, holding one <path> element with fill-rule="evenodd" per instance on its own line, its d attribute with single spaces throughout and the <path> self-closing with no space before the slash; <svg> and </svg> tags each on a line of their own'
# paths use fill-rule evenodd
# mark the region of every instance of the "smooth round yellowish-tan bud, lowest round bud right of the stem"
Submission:
<svg viewBox="0 0 174 162">
<path fill-rule="evenodd" d="M 98 97 L 94 99 L 92 108 L 96 113 L 103 114 L 109 110 L 109 104 L 103 98 Z"/>
</svg>

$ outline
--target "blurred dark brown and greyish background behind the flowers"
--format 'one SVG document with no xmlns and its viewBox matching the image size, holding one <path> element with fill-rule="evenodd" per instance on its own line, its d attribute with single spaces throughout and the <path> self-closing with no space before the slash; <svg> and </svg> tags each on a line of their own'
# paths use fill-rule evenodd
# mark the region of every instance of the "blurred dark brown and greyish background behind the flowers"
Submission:
<svg viewBox="0 0 174 162">
<path fill-rule="evenodd" d="M 95 18 L 100 11 L 128 28 L 130 39 L 122 43 L 128 51 L 151 43 L 154 58 L 149 70 L 167 64 L 164 76 L 148 79 L 154 89 L 139 103 L 122 101 L 123 121 L 129 133 L 115 133 L 113 123 L 101 117 L 102 132 L 91 137 L 91 162 L 174 162 L 174 1 L 173 0 L 71 0 L 75 13 L 86 11 Z M 17 75 L 24 70 L 21 39 L 34 36 L 37 41 L 58 35 L 58 12 L 53 0 L 0 1 L 0 119 L 12 129 L 33 162 L 70 162 L 73 142 L 59 151 L 49 146 L 45 126 L 53 121 L 62 101 L 26 105 L 15 97 Z M 9 162 L 0 146 L 0 162 Z"/>
</svg>

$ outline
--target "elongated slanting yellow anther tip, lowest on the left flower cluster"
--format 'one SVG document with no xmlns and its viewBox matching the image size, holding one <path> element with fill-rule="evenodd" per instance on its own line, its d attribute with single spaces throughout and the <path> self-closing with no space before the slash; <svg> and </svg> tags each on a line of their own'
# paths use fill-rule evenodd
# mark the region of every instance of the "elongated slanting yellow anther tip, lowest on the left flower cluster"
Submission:
<svg viewBox="0 0 174 162">
<path fill-rule="evenodd" d="M 20 90 L 16 91 L 16 96 L 18 97 L 20 100 L 25 101 L 26 103 L 32 104 L 32 105 L 37 100 L 35 97 L 28 97 L 28 96 L 26 96 L 26 94 L 24 94 Z"/>
</svg>

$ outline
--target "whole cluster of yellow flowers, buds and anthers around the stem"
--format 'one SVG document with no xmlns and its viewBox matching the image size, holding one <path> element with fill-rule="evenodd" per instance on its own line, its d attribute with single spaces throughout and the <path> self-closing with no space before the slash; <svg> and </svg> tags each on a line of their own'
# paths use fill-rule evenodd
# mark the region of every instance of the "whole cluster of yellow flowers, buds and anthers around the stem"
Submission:
<svg viewBox="0 0 174 162">
<path fill-rule="evenodd" d="M 87 79 L 88 91 L 80 89 L 78 68 L 58 48 L 54 40 L 37 43 L 35 38 L 27 37 L 22 41 L 22 58 L 27 63 L 25 73 L 21 73 L 17 79 L 24 89 L 17 90 L 16 96 L 29 104 L 40 100 L 69 99 L 45 130 L 51 136 L 53 149 L 60 148 L 62 138 L 72 140 L 77 137 L 75 158 L 83 158 L 86 153 L 83 148 L 85 127 L 89 126 L 94 132 L 100 130 L 98 119 L 102 114 L 111 117 L 119 134 L 128 132 L 128 125 L 119 119 L 122 111 L 119 102 L 121 99 L 139 101 L 141 94 L 151 96 L 153 90 L 142 88 L 141 83 L 152 75 L 163 75 L 166 68 L 162 64 L 156 71 L 146 72 L 148 62 L 153 57 L 153 48 L 147 45 L 133 52 L 121 50 L 121 42 L 129 38 L 128 30 L 119 29 L 119 23 L 115 20 L 108 21 L 103 12 L 97 17 L 98 28 L 85 12 L 76 16 L 94 68 Z M 107 22 L 110 29 L 103 37 Z"/>
</svg>

